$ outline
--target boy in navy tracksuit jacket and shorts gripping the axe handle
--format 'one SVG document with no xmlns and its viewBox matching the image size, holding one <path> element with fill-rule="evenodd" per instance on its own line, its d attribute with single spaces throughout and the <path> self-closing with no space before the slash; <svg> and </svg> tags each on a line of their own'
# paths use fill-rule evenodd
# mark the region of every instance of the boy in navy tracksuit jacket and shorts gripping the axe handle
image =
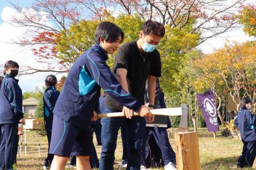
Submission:
<svg viewBox="0 0 256 170">
<path fill-rule="evenodd" d="M 151 118 L 150 109 L 122 89 L 106 64 L 107 54 L 114 54 L 124 33 L 111 22 L 102 22 L 96 29 L 94 46 L 82 54 L 67 75 L 54 108 L 50 153 L 54 154 L 51 169 L 65 169 L 69 156 L 76 155 L 77 169 L 90 169 L 91 118 L 97 119 L 97 100 L 101 87 L 115 100 L 140 116 Z M 129 110 L 126 110 L 129 111 Z M 71 153 L 72 152 L 72 153 Z"/>
</svg>

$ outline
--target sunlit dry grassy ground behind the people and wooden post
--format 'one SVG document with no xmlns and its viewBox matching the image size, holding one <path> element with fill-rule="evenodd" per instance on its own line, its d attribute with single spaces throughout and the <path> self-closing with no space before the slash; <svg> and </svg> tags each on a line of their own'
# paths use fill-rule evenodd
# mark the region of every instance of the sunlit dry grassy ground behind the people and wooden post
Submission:
<svg viewBox="0 0 256 170">
<path fill-rule="evenodd" d="M 175 132 L 175 130 L 174 130 Z M 229 170 L 237 169 L 237 158 L 242 151 L 242 142 L 234 138 L 220 136 L 217 133 L 217 138 L 213 138 L 212 133 L 208 133 L 205 128 L 199 129 L 199 151 L 200 151 L 200 166 L 203 170 Z M 95 138 L 94 138 L 95 139 Z M 22 146 L 21 157 L 17 159 L 17 169 L 19 170 L 39 170 L 42 169 L 44 158 L 47 154 L 47 139 L 46 136 L 41 136 L 41 157 L 38 154 L 36 138 L 32 132 L 27 132 L 27 157 L 24 154 L 24 146 Z M 96 142 L 95 142 L 96 143 Z M 170 139 L 170 143 L 174 146 L 174 139 Z M 23 141 L 24 144 L 24 141 Z M 101 146 L 96 146 L 97 154 L 101 154 Z M 117 141 L 116 162 L 122 161 L 122 141 L 121 137 Z M 18 156 L 17 156 L 18 158 Z M 116 168 L 119 169 L 119 168 Z M 245 168 L 246 169 L 246 168 Z M 256 169 L 256 163 L 253 168 Z M 246 169 L 246 170 L 247 170 Z"/>
</svg>

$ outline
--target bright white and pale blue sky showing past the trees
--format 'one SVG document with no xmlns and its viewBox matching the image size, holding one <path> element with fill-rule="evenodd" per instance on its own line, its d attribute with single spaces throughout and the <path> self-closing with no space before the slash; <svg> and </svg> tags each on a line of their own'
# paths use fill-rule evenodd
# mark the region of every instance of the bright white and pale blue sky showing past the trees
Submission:
<svg viewBox="0 0 256 170">
<path fill-rule="evenodd" d="M 19 5 L 22 7 L 28 6 L 30 0 L 10 0 L 14 3 L 19 2 Z M 229 0 L 231 1 L 231 0 Z M 255 2 L 255 0 L 249 0 Z M 36 62 L 36 56 L 32 54 L 31 49 L 24 49 L 24 47 L 19 47 L 19 45 L 9 44 L 10 40 L 17 39 L 26 29 L 24 27 L 14 27 L 6 23 L 6 20 L 12 14 L 16 14 L 16 11 L 12 9 L 11 4 L 7 0 L 0 0 L 0 65 L 4 65 L 7 60 L 15 60 L 19 65 L 36 65 L 37 67 L 42 67 L 41 64 Z M 245 35 L 242 31 L 242 26 L 239 26 L 235 31 L 227 32 L 222 34 L 221 37 L 215 37 L 209 39 L 204 43 L 199 45 L 199 49 L 203 52 L 209 54 L 214 52 L 214 49 L 219 49 L 223 47 L 224 43 L 229 40 L 237 42 L 245 42 L 246 40 L 255 40 L 254 37 L 249 37 Z M 1 71 L 1 70 L 0 70 Z M 33 75 L 22 75 L 19 77 L 19 85 L 22 89 L 22 92 L 27 90 L 34 90 L 37 87 L 41 88 L 44 85 L 44 79 L 50 73 L 35 73 Z M 59 79 L 62 75 L 57 75 Z"/>
</svg>

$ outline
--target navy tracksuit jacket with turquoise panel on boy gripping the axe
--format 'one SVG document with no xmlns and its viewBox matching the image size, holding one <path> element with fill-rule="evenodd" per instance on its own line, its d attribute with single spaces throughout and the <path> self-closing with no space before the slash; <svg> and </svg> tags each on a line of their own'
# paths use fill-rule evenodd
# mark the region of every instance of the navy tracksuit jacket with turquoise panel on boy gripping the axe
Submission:
<svg viewBox="0 0 256 170">
<path fill-rule="evenodd" d="M 86 130 L 101 87 L 121 105 L 134 111 L 140 109 L 142 104 L 122 89 L 107 66 L 107 59 L 101 45 L 94 44 L 74 62 L 54 108 L 55 115 Z"/>
</svg>

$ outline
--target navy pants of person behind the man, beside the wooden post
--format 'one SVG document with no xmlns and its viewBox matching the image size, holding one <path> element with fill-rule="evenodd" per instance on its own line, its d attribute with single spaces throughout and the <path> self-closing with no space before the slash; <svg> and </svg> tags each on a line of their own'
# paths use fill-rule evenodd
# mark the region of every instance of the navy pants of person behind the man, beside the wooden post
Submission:
<svg viewBox="0 0 256 170">
<path fill-rule="evenodd" d="M 164 128 L 164 127 L 147 127 L 146 131 L 145 131 L 144 139 L 142 141 L 142 147 L 141 147 L 142 148 L 142 163 L 141 164 L 145 166 L 145 160 L 146 160 L 145 159 L 146 158 L 145 148 L 148 143 L 148 136 L 149 136 L 150 132 L 154 135 L 155 142 L 157 143 L 157 145 L 159 146 L 159 148 L 161 150 L 164 165 L 167 165 L 170 162 L 175 163 L 176 162 L 175 152 L 172 149 L 172 146 L 170 146 L 166 128 Z"/>
</svg>

